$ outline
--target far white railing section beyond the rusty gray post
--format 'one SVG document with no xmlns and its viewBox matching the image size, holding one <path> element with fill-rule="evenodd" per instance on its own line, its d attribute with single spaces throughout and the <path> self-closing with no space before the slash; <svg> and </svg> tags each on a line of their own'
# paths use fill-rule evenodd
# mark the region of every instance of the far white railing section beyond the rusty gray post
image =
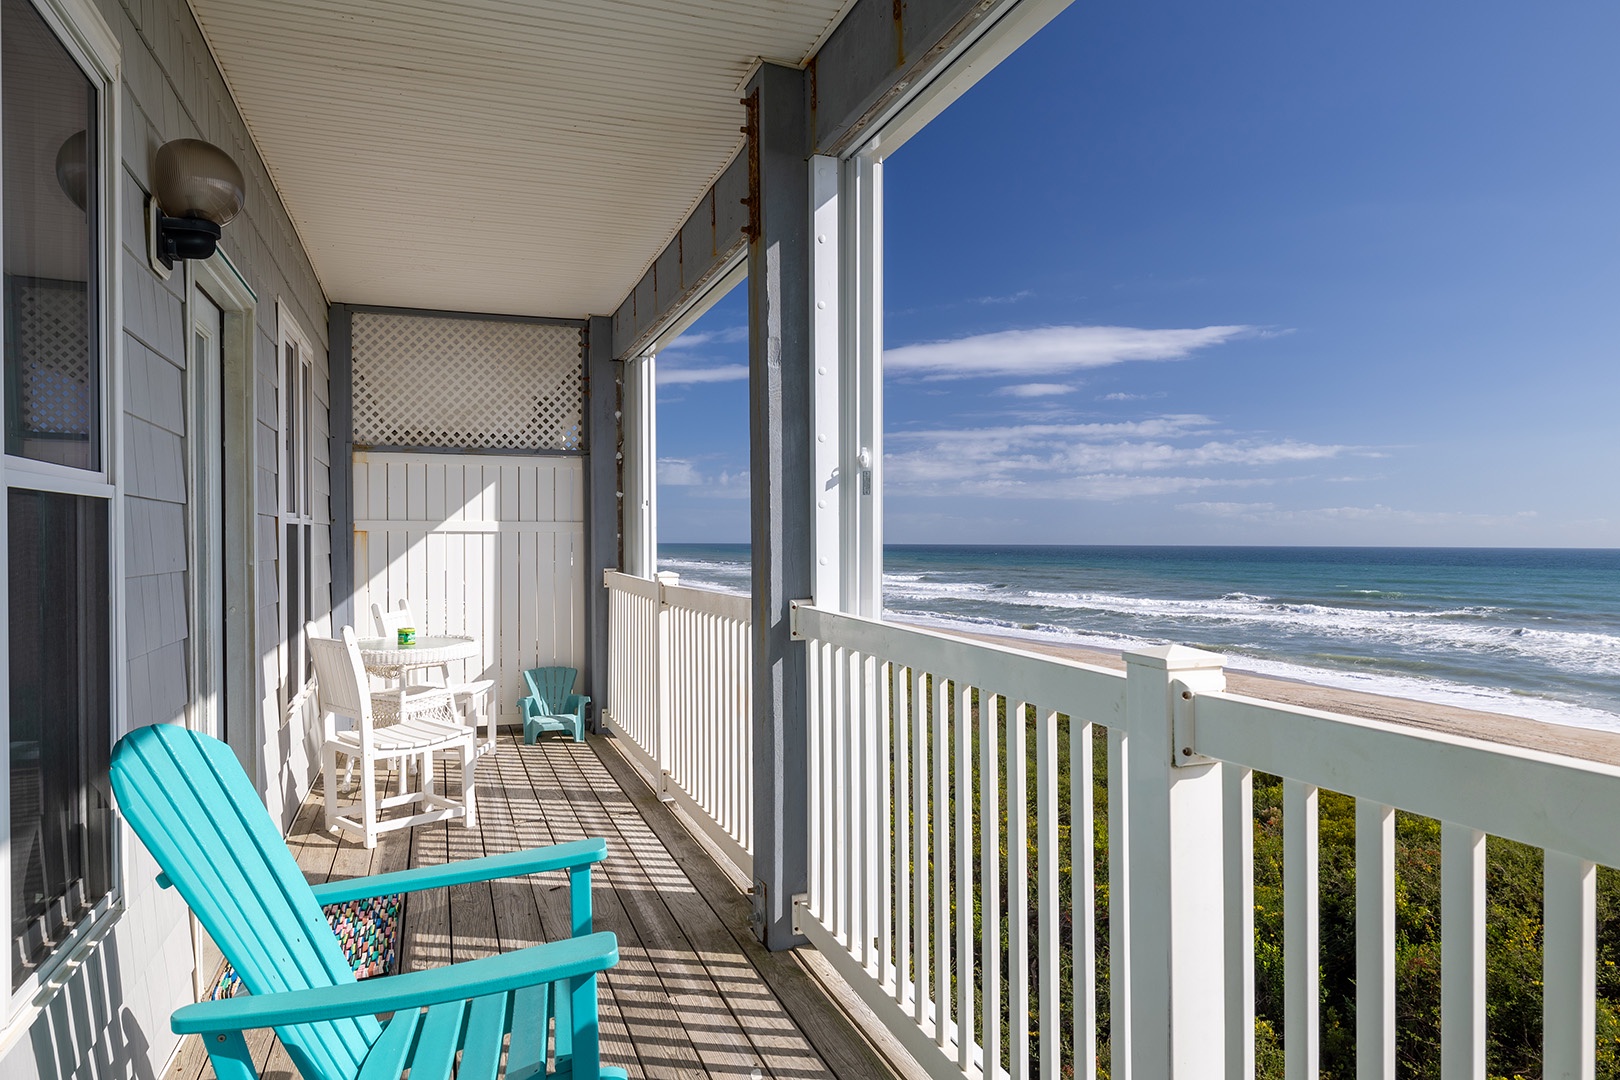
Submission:
<svg viewBox="0 0 1620 1080">
<path fill-rule="evenodd" d="M 747 596 L 609 570 L 603 716 L 658 789 L 753 874 L 752 612 Z"/>
</svg>

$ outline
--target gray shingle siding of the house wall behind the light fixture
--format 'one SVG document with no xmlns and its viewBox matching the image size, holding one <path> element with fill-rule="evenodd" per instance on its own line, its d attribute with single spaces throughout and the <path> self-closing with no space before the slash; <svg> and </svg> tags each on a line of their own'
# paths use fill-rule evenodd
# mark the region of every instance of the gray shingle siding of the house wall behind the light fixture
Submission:
<svg viewBox="0 0 1620 1080">
<path fill-rule="evenodd" d="M 258 455 L 254 508 L 258 539 L 256 604 L 261 659 L 254 670 L 228 674 L 254 680 L 259 709 L 275 730 L 262 732 L 272 808 L 290 813 L 308 790 L 306 740 L 279 730 L 274 706 L 274 651 L 280 636 L 277 578 L 277 300 L 287 304 L 316 348 L 314 510 L 316 552 L 330 549 L 326 492 L 329 402 L 327 298 L 300 246 L 296 230 L 259 160 L 246 125 L 214 65 L 183 0 L 94 0 L 120 42 L 118 87 L 122 162 L 110 180 L 120 201 L 120 296 L 123 303 L 120 372 L 123 392 L 122 453 L 125 554 L 125 725 L 181 721 L 188 708 L 190 570 L 186 552 L 188 376 L 185 275 L 162 280 L 146 262 L 144 199 L 157 147 L 168 139 L 202 138 L 224 147 L 246 178 L 243 214 L 220 244 L 258 295 L 254 311 L 254 429 Z M 220 513 L 204 507 L 202 513 Z M 330 609 L 330 568 L 314 567 L 316 614 Z M 292 746 L 280 751 L 279 746 Z M 125 910 L 112 933 L 40 1014 L 29 1038 L 0 1056 L 6 1080 L 160 1074 L 177 1044 L 168 1014 L 191 999 L 190 934 L 185 905 L 154 884 L 156 866 L 133 837 L 123 839 Z M 63 1023 L 62 1002 L 87 1002 L 87 1020 Z"/>
</svg>

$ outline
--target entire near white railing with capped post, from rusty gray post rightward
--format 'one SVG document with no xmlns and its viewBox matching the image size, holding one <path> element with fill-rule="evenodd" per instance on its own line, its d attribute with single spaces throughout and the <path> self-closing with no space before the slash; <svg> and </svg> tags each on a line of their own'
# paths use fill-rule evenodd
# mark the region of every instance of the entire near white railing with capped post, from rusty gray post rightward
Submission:
<svg viewBox="0 0 1620 1080">
<path fill-rule="evenodd" d="M 1106 1051 L 1116 1078 L 1252 1077 L 1264 771 L 1285 777 L 1288 1077 L 1319 1069 L 1319 787 L 1358 798 L 1358 1077 L 1395 1077 L 1396 806 L 1442 821 L 1440 1075 L 1486 1069 L 1486 834 L 1545 850 L 1544 1075 L 1592 1075 L 1594 865 L 1620 863 L 1620 769 L 1228 695 L 1220 657 L 1194 649 L 1128 654 L 1121 675 L 807 604 L 794 631 L 810 674 L 799 929 L 930 1074 L 1095 1077 Z"/>
</svg>

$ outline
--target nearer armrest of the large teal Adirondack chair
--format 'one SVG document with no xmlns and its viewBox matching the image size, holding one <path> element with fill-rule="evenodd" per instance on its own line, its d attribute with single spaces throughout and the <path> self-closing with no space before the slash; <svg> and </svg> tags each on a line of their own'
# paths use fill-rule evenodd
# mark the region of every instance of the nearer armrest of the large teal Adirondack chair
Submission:
<svg viewBox="0 0 1620 1080">
<path fill-rule="evenodd" d="M 364 983 L 204 1001 L 177 1009 L 168 1027 L 175 1035 L 212 1035 L 369 1017 L 595 975 L 617 962 L 619 939 L 604 931 Z"/>
</svg>

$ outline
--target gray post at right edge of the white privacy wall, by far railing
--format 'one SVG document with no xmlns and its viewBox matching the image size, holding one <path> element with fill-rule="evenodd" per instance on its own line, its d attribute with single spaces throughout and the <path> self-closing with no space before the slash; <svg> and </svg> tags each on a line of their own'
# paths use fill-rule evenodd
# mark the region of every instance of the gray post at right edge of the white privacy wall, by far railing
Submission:
<svg viewBox="0 0 1620 1080">
<path fill-rule="evenodd" d="M 591 730 L 601 732 L 608 701 L 608 589 L 603 572 L 619 567 L 619 368 L 612 319 L 585 329 L 585 674 Z"/>
</svg>

